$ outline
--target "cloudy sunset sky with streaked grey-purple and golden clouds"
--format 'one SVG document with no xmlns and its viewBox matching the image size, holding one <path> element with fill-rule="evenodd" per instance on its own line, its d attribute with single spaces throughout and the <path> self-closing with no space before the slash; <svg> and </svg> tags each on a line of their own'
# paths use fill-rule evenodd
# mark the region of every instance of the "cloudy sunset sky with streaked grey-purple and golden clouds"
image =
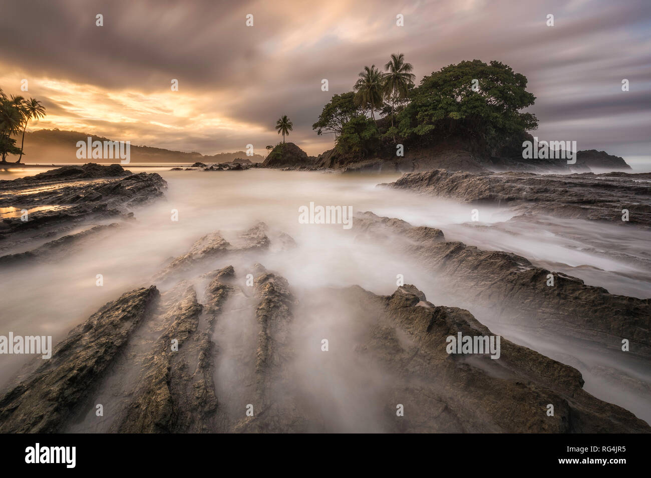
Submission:
<svg viewBox="0 0 651 478">
<path fill-rule="evenodd" d="M 311 127 L 323 105 L 397 52 L 417 81 L 461 60 L 505 62 L 529 79 L 540 139 L 651 154 L 649 0 L 0 0 L 0 87 L 48 111 L 31 129 L 204 154 L 264 154 L 282 114 L 309 154 L 331 148 Z"/>
</svg>

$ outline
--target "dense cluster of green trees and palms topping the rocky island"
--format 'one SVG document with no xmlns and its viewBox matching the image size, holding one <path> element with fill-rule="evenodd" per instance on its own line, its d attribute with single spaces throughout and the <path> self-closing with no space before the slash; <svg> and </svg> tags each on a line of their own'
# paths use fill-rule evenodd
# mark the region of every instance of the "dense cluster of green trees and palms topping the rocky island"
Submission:
<svg viewBox="0 0 651 478">
<path fill-rule="evenodd" d="M 419 86 L 413 86 L 413 66 L 404 62 L 404 55 L 391 55 L 385 68 L 389 71 L 382 74 L 374 65 L 365 67 L 356 92 L 333 96 L 312 125 L 317 134 L 335 133 L 340 153 L 389 154 L 396 140 L 427 146 L 451 135 L 494 152 L 538 127 L 534 114 L 521 112 L 536 100 L 526 90 L 527 77 L 501 62 L 451 64 L 426 75 Z M 380 115 L 391 114 L 391 127 L 388 118 L 375 120 L 383 96 L 391 104 Z M 366 118 L 367 108 L 371 118 Z"/>
</svg>

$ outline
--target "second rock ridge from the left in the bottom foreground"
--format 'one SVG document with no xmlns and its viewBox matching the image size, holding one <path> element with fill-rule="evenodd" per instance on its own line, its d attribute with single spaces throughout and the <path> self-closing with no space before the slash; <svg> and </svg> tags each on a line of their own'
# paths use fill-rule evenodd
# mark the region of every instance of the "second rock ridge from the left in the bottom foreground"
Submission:
<svg viewBox="0 0 651 478">
<path fill-rule="evenodd" d="M 181 283 L 161 297 L 167 302 L 162 333 L 143 360 L 141 378 L 109 431 L 122 433 L 210 432 L 217 398 L 212 377 L 210 328 L 199 330 L 202 306 L 194 288 Z M 167 295 L 172 294 L 169 299 Z M 227 295 L 212 296 L 218 308 Z M 176 341 L 176 350 L 173 350 Z"/>
</svg>

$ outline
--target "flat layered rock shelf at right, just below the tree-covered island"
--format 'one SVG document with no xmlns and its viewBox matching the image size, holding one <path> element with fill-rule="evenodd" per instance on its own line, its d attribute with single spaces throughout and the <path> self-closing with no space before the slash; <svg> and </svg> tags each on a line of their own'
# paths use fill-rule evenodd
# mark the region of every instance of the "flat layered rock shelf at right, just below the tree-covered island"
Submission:
<svg viewBox="0 0 651 478">
<path fill-rule="evenodd" d="M 404 174 L 383 187 L 454 198 L 471 204 L 514 207 L 572 219 L 607 220 L 651 227 L 651 174 L 534 174 L 525 172 L 449 172 Z M 628 221 L 622 221 L 622 210 Z"/>
</svg>

